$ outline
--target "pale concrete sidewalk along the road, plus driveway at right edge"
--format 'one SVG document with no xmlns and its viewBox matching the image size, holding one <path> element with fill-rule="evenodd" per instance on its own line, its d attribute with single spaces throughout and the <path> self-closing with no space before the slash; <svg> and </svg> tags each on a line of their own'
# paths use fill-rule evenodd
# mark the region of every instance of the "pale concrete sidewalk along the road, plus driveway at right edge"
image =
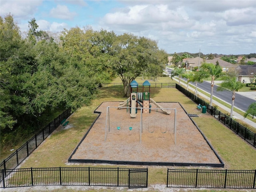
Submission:
<svg viewBox="0 0 256 192">
<path fill-rule="evenodd" d="M 176 78 L 173 78 L 173 80 L 176 80 L 177 82 L 179 82 L 179 80 L 176 79 Z M 216 83 L 216 82 L 215 82 L 215 83 Z M 186 85 L 185 83 L 183 83 L 183 82 L 180 82 L 180 84 L 184 85 L 185 87 L 187 86 L 187 85 Z M 189 84 L 189 85 L 190 85 L 190 84 Z M 189 88 L 190 90 L 192 90 L 193 92 L 195 91 L 195 89 L 192 88 L 192 87 L 190 87 L 190 86 L 188 86 L 188 88 Z M 200 88 L 198 88 L 198 89 L 200 89 Z M 202 90 L 202 91 L 204 91 L 204 90 Z M 205 91 L 204 91 L 204 92 L 205 92 Z M 208 93 L 208 94 L 210 94 L 210 93 Z M 240 94 L 241 96 L 250 97 L 250 98 L 252 98 L 252 99 L 254 99 L 254 100 L 255 100 L 255 98 L 256 98 L 256 95 L 255 95 L 256 93 L 255 93 L 255 92 L 249 92 L 249 93 L 247 93 L 247 92 L 240 92 L 240 93 L 236 93 L 236 94 Z M 201 92 L 198 92 L 198 95 L 200 95 L 201 97 L 203 97 L 203 98 L 205 98 L 205 99 L 207 99 L 207 100 L 210 100 L 210 97 L 208 97 L 208 96 L 202 94 Z M 215 97 L 215 96 L 214 96 L 214 97 Z M 218 99 L 220 99 L 220 98 L 218 98 Z M 220 100 L 222 100 L 222 99 L 220 99 Z M 222 101 L 223 101 L 223 100 L 222 100 Z M 223 101 L 223 102 L 224 102 L 224 101 Z M 226 106 L 224 106 L 224 105 L 222 105 L 222 104 L 216 102 L 215 100 L 212 100 L 212 103 L 218 105 L 220 108 L 226 110 L 227 112 L 230 112 L 230 108 L 228 108 L 228 107 L 226 107 Z M 234 108 L 236 108 L 236 107 L 234 106 Z M 237 109 L 238 109 L 238 110 L 241 110 L 241 109 L 239 109 L 239 108 L 237 108 Z M 243 110 L 241 110 L 241 111 L 243 111 Z M 238 114 L 237 112 L 234 112 L 234 111 L 233 111 L 233 118 L 234 118 L 234 119 L 240 119 L 240 120 L 246 122 L 247 124 L 253 126 L 254 128 L 256 128 L 256 123 L 252 122 L 252 121 L 249 120 L 248 118 L 244 118 L 242 115 Z"/>
</svg>

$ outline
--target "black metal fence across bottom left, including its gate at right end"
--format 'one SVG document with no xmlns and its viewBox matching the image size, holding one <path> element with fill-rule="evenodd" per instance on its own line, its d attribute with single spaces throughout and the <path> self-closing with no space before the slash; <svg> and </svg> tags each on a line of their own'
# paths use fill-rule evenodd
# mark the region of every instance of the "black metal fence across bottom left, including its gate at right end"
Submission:
<svg viewBox="0 0 256 192">
<path fill-rule="evenodd" d="M 10 172 L 4 177 L 5 172 Z M 148 187 L 148 168 L 24 168 L 1 170 L 1 188 L 26 186 Z"/>
</svg>

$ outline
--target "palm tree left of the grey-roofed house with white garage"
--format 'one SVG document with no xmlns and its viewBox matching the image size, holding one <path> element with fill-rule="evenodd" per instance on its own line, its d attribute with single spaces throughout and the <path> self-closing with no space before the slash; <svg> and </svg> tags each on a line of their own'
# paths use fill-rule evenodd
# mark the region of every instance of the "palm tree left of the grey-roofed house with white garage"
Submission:
<svg viewBox="0 0 256 192">
<path fill-rule="evenodd" d="M 217 88 L 218 91 L 223 90 L 230 90 L 232 91 L 232 103 L 231 103 L 231 110 L 230 110 L 230 117 L 233 116 L 233 108 L 234 108 L 234 102 L 235 102 L 235 93 L 239 89 L 243 87 L 243 84 L 239 81 L 236 81 L 236 77 L 232 76 L 224 76 L 224 81 L 220 84 L 220 86 Z"/>
</svg>

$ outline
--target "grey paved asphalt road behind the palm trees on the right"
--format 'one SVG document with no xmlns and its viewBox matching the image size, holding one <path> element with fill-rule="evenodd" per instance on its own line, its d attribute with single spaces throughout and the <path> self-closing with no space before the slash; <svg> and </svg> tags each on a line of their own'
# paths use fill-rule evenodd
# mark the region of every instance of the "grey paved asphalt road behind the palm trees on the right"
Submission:
<svg viewBox="0 0 256 192">
<path fill-rule="evenodd" d="M 172 71 L 172 69 L 167 68 L 167 73 L 170 74 L 170 72 Z M 183 80 L 186 81 L 186 79 L 184 78 Z M 195 86 L 195 83 L 190 82 L 190 84 Z M 210 82 L 204 81 L 202 83 L 198 83 L 197 84 L 198 88 L 204 90 L 205 92 L 208 92 L 210 94 L 211 92 L 211 85 Z M 218 88 L 217 85 L 214 85 L 214 90 L 213 90 L 213 95 L 216 98 L 219 98 L 220 100 L 223 100 L 224 102 L 228 103 L 231 105 L 232 102 L 232 92 L 231 91 L 217 91 L 216 89 Z M 252 99 L 252 98 L 248 98 L 246 95 L 243 94 L 239 94 L 238 92 L 236 92 L 235 94 L 235 103 L 234 106 L 236 108 L 239 108 L 242 111 L 246 111 L 249 107 L 249 105 L 252 102 L 256 102 L 256 100 Z"/>
</svg>

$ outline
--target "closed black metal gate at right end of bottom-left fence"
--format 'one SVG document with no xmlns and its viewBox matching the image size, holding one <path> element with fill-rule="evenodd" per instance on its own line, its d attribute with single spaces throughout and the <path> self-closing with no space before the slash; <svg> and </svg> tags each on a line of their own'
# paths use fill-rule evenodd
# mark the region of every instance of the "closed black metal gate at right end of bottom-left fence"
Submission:
<svg viewBox="0 0 256 192">
<path fill-rule="evenodd" d="M 148 187 L 148 168 L 129 169 L 129 188 Z"/>
</svg>

